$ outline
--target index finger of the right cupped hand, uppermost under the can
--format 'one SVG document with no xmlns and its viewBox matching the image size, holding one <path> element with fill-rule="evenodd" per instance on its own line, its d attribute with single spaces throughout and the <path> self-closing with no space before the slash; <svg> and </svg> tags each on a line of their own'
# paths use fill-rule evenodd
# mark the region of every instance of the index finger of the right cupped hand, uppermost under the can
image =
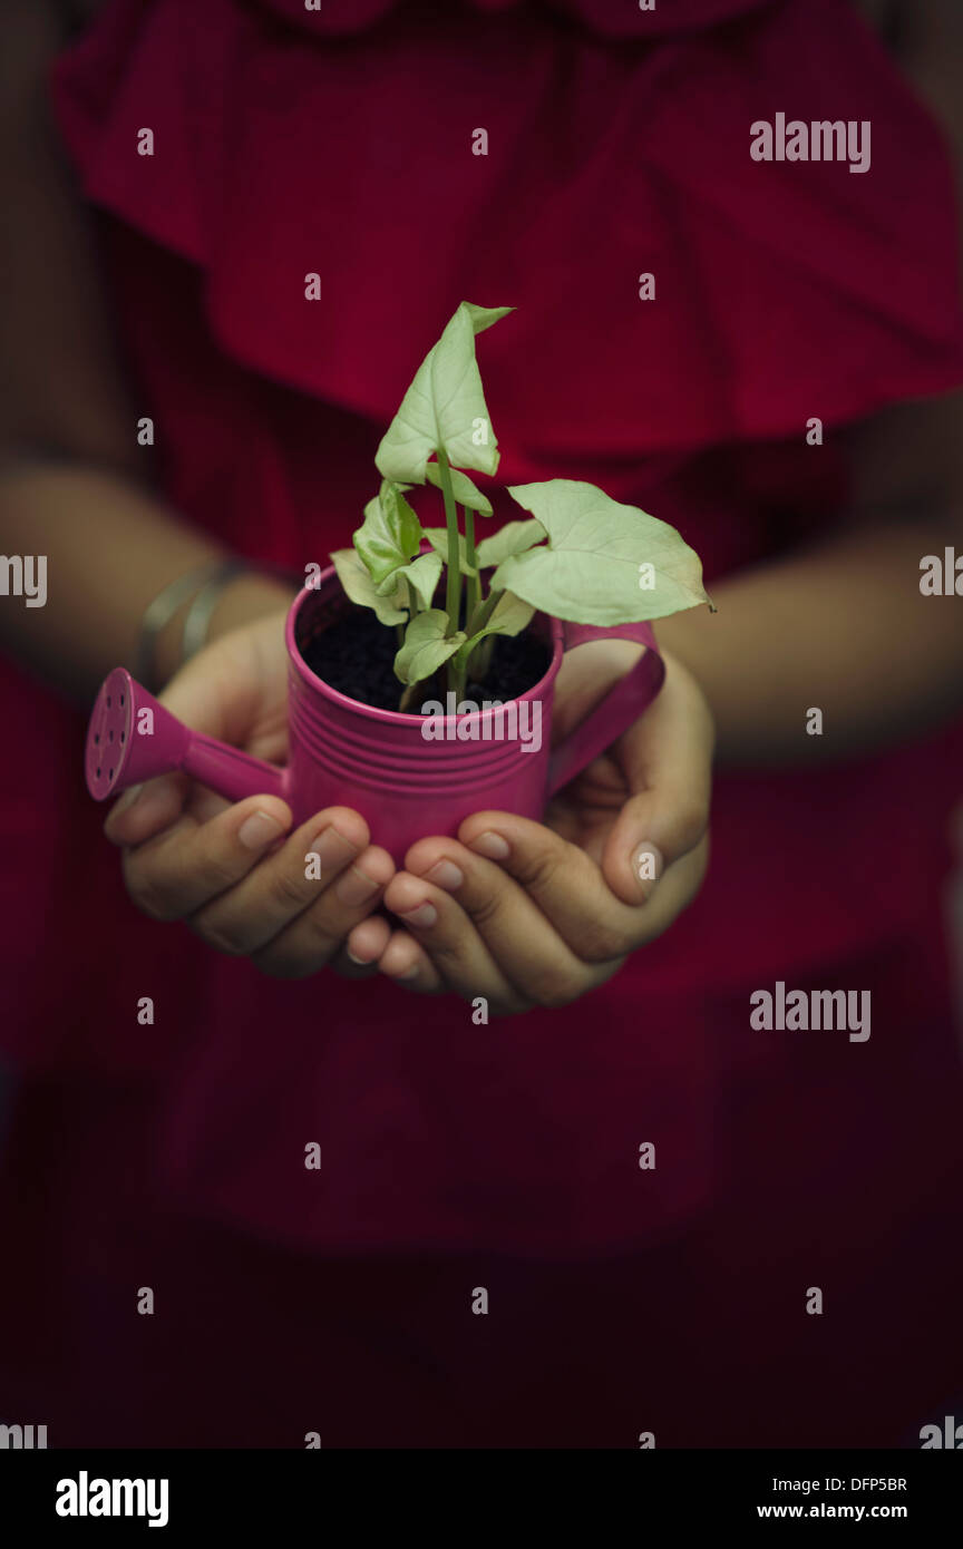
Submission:
<svg viewBox="0 0 963 1549">
<path fill-rule="evenodd" d="M 562 976 L 560 994 L 585 963 L 613 963 L 638 946 L 646 929 L 639 905 L 632 908 L 615 898 L 599 867 L 577 844 L 508 812 L 472 813 L 458 838 L 472 857 L 469 892 L 458 889 L 458 900 L 478 920 L 478 929 L 516 984 L 529 985 L 529 977 L 519 979 L 517 965 L 525 962 L 529 946 L 536 954 L 536 943 L 537 953 L 550 957 Z M 565 946 L 564 953 L 557 943 Z M 545 1004 L 542 993 L 539 1001 Z"/>
</svg>

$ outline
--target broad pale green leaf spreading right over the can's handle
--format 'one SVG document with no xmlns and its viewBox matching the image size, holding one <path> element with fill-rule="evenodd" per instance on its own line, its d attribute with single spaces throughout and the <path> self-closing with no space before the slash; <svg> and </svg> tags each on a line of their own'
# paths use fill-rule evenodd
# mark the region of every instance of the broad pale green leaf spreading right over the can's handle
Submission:
<svg viewBox="0 0 963 1549">
<path fill-rule="evenodd" d="M 698 555 L 667 522 L 570 479 L 517 485 L 509 494 L 539 519 L 548 544 L 509 555 L 492 576 L 494 589 L 556 618 L 599 626 L 664 618 L 709 601 Z"/>
</svg>

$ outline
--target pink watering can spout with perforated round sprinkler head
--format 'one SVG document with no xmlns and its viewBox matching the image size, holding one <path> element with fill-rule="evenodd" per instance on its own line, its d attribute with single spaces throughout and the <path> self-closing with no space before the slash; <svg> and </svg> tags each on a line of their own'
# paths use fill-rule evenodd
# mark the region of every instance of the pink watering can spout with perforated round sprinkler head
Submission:
<svg viewBox="0 0 963 1549">
<path fill-rule="evenodd" d="M 98 694 L 84 757 L 94 801 L 119 796 L 130 785 L 183 770 L 229 801 L 285 796 L 286 771 L 238 748 L 190 731 L 164 709 L 125 668 L 115 668 Z"/>
</svg>

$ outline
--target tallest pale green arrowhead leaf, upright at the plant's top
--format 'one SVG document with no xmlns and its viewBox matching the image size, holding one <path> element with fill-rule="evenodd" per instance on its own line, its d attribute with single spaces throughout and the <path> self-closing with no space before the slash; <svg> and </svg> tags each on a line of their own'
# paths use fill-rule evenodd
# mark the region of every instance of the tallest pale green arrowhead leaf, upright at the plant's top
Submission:
<svg viewBox="0 0 963 1549">
<path fill-rule="evenodd" d="M 375 462 L 386 479 L 424 483 L 427 459 L 440 448 L 452 468 L 495 472 L 499 448 L 475 361 L 475 335 L 511 310 L 461 302 L 382 437 Z"/>
</svg>

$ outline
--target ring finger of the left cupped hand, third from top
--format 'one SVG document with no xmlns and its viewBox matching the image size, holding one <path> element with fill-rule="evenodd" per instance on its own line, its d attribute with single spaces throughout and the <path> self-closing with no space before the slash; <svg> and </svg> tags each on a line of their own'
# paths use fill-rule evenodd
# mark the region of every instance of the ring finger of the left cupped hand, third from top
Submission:
<svg viewBox="0 0 963 1549">
<path fill-rule="evenodd" d="M 303 979 L 341 953 L 345 937 L 375 909 L 395 875 L 387 850 L 372 846 L 260 951 L 252 963 L 276 979 Z"/>
</svg>

